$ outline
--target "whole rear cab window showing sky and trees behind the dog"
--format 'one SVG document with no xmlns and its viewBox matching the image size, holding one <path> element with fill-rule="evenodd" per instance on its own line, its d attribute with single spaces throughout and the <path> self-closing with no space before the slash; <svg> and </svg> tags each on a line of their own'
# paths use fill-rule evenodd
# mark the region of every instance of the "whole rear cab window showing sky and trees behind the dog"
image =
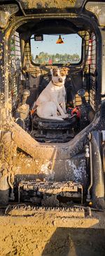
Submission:
<svg viewBox="0 0 105 256">
<path fill-rule="evenodd" d="M 36 64 L 79 63 L 82 39 L 78 34 L 31 36 L 31 59 Z M 37 41 L 40 39 L 41 41 Z M 62 43 L 61 40 L 62 39 Z M 36 41 L 35 41 L 36 40 Z M 60 41 L 60 43 L 58 43 Z"/>
</svg>

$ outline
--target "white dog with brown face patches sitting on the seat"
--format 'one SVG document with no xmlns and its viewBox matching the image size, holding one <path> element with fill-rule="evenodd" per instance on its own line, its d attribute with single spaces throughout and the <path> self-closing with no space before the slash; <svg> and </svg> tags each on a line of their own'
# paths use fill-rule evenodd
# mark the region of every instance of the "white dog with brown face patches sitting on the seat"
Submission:
<svg viewBox="0 0 105 256">
<path fill-rule="evenodd" d="M 52 79 L 36 100 L 38 117 L 49 120 L 64 120 L 68 117 L 65 106 L 66 69 L 54 68 L 50 70 Z M 59 115 L 57 115 L 57 111 Z"/>
</svg>

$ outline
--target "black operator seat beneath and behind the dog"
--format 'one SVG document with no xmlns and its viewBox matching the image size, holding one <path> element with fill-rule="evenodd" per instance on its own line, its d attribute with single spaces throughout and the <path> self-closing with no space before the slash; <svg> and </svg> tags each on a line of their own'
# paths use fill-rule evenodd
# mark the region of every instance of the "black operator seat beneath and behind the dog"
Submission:
<svg viewBox="0 0 105 256">
<path fill-rule="evenodd" d="M 51 75 L 47 74 L 41 78 L 40 85 L 36 94 L 36 99 L 41 94 L 41 91 L 45 89 L 51 80 Z M 66 89 L 66 107 L 73 108 L 74 91 L 71 83 L 71 78 L 66 77 L 65 82 Z M 67 118 L 63 121 L 58 120 L 45 120 L 44 118 L 38 117 L 36 113 L 33 113 L 31 118 L 33 136 L 37 141 L 45 142 L 66 142 L 73 138 L 74 129 L 78 124 L 77 117 Z"/>
</svg>

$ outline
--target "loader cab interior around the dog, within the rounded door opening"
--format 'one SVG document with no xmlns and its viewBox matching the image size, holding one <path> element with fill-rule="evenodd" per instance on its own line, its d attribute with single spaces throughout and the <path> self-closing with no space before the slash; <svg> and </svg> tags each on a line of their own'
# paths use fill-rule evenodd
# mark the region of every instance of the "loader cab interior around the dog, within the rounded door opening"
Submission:
<svg viewBox="0 0 105 256">
<path fill-rule="evenodd" d="M 46 53 L 61 44 L 53 37 L 70 38 L 62 54 Z M 45 41 L 45 38 L 48 38 Z M 76 41 L 76 54 L 71 49 Z M 52 44 L 51 44 L 52 41 Z M 71 45 L 72 41 L 72 45 Z M 38 47 L 40 44 L 40 47 Z M 55 45 L 54 45 L 55 44 Z M 64 44 L 62 44 L 64 46 Z M 46 47 L 45 49 L 43 49 Z M 38 49 L 40 48 L 40 49 Z M 80 49 L 80 56 L 78 54 Z M 12 115 L 25 131 L 36 141 L 64 143 L 70 141 L 94 120 L 99 108 L 97 102 L 97 30 L 85 18 L 29 18 L 22 22 L 9 39 L 9 95 Z M 54 50 L 55 51 L 55 50 Z M 64 51 L 64 52 L 63 52 Z M 43 57 L 43 55 L 46 55 Z M 60 52 L 61 53 L 61 52 Z M 64 54 L 66 57 L 64 58 Z M 75 55 L 75 56 L 74 56 Z M 75 108 L 80 116 L 74 115 L 63 122 L 44 120 L 36 115 L 34 103 L 41 91 L 50 82 L 51 68 L 66 68 L 66 110 Z M 26 93 L 26 95 L 25 95 Z M 25 96 L 25 97 L 24 97 Z M 32 113 L 32 114 L 31 114 Z M 75 111 L 74 111 L 74 114 Z"/>
</svg>

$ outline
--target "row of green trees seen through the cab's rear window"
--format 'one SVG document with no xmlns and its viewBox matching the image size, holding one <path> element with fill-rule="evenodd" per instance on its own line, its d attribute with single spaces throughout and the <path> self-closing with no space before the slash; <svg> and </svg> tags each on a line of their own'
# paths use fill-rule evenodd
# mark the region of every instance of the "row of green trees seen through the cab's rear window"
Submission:
<svg viewBox="0 0 105 256">
<path fill-rule="evenodd" d="M 80 56 L 78 54 L 48 54 L 41 51 L 35 59 L 33 59 L 35 63 L 38 64 L 49 64 L 49 63 L 78 63 L 80 61 Z"/>
</svg>

